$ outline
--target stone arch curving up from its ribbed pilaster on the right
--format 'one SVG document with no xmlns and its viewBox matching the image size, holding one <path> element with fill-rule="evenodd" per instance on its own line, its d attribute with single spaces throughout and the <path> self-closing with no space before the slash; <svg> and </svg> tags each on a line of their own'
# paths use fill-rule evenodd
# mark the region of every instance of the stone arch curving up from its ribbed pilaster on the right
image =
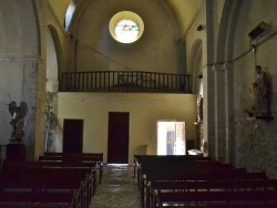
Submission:
<svg viewBox="0 0 277 208">
<path fill-rule="evenodd" d="M 242 0 L 227 0 L 223 7 L 216 43 L 215 73 L 215 134 L 214 156 L 223 163 L 230 163 L 235 157 L 234 145 L 234 82 L 233 49 L 234 33 Z"/>
</svg>

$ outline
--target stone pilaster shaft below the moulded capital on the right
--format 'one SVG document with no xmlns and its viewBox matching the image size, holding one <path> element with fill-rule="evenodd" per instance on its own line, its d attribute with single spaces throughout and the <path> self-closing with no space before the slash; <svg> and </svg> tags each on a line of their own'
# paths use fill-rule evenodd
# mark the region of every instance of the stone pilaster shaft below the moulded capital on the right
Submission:
<svg viewBox="0 0 277 208">
<path fill-rule="evenodd" d="M 215 76 L 215 157 L 229 163 L 233 144 L 233 72 L 232 64 L 213 66 Z M 233 156 L 232 156 L 233 157 Z"/>
</svg>

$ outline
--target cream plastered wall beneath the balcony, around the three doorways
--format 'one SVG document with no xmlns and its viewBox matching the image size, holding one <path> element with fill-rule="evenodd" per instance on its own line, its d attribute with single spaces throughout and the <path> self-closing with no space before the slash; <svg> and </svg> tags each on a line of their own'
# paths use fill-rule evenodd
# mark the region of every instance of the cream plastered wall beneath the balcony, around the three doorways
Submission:
<svg viewBox="0 0 277 208">
<path fill-rule="evenodd" d="M 158 119 L 185 121 L 186 139 L 196 137 L 196 95 L 137 93 L 59 93 L 60 134 L 64 118 L 84 119 L 83 152 L 103 152 L 106 160 L 109 112 L 130 112 L 130 163 L 142 146 L 156 154 Z"/>
</svg>

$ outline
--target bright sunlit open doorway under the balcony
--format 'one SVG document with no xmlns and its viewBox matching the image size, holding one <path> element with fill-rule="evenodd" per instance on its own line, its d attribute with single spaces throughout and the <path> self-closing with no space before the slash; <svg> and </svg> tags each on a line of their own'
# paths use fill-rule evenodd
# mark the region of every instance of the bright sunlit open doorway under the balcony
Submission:
<svg viewBox="0 0 277 208">
<path fill-rule="evenodd" d="M 157 155 L 186 155 L 185 122 L 157 121 Z"/>
</svg>

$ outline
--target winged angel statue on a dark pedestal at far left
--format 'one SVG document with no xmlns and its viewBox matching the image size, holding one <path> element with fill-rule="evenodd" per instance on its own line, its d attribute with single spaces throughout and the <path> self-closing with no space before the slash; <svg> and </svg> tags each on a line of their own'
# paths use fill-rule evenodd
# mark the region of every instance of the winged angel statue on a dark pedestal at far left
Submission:
<svg viewBox="0 0 277 208">
<path fill-rule="evenodd" d="M 12 101 L 9 104 L 9 112 L 12 116 L 12 119 L 10 122 L 12 126 L 10 141 L 22 142 L 22 137 L 24 135 L 24 127 L 25 127 L 24 116 L 28 112 L 27 103 L 21 102 L 20 106 L 17 106 L 17 103 Z"/>
</svg>

